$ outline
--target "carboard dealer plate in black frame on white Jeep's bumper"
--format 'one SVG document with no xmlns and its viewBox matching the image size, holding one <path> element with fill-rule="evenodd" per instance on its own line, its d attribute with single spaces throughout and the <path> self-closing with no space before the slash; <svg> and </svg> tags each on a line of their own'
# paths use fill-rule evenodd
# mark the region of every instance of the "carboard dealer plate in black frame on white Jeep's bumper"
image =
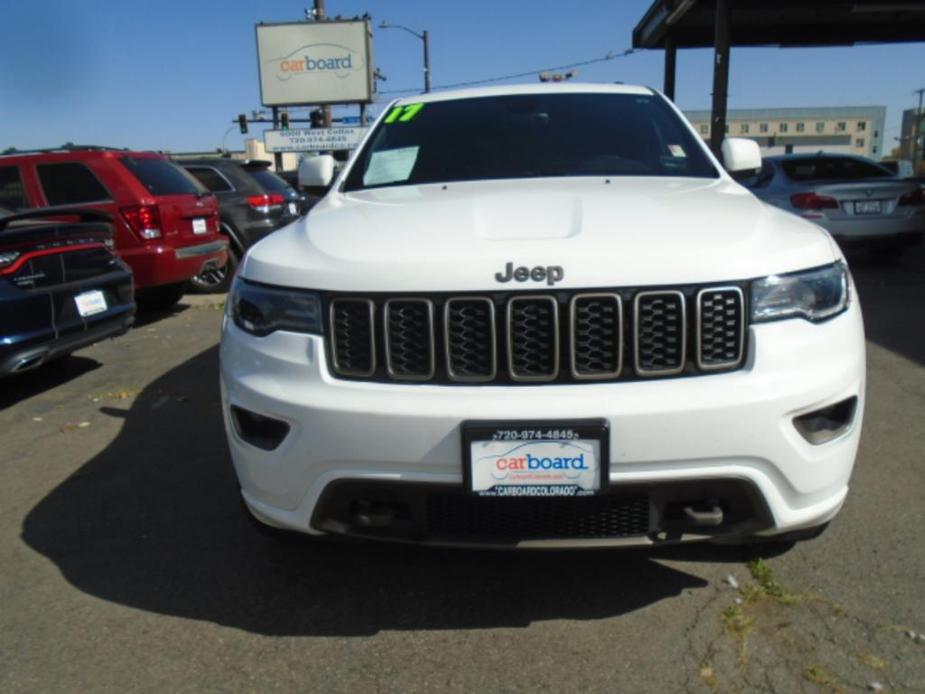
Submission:
<svg viewBox="0 0 925 694">
<path fill-rule="evenodd" d="M 465 422 L 463 476 L 479 496 L 590 496 L 607 487 L 607 422 Z"/>
</svg>

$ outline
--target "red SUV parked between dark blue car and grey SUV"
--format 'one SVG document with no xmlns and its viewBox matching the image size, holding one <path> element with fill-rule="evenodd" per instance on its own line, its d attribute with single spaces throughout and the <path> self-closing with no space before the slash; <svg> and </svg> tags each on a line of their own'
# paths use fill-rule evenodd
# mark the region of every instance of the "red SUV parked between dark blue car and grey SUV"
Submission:
<svg viewBox="0 0 925 694">
<path fill-rule="evenodd" d="M 187 280 L 228 259 L 215 197 L 154 152 L 64 147 L 0 156 L 0 205 L 109 213 L 141 306 L 175 303 Z"/>
</svg>

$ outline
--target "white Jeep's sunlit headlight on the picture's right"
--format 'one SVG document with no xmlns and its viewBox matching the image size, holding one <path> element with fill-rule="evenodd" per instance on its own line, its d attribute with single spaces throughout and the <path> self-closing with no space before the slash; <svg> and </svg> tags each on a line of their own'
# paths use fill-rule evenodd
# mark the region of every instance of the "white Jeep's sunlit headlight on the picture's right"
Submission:
<svg viewBox="0 0 925 694">
<path fill-rule="evenodd" d="M 815 270 L 771 275 L 752 283 L 752 320 L 825 320 L 848 306 L 848 269 L 834 263 Z"/>
</svg>

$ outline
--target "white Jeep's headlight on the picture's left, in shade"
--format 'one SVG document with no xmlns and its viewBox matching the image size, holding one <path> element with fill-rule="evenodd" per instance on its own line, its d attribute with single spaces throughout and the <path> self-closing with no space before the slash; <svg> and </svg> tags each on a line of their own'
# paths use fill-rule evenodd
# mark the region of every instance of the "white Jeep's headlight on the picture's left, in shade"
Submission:
<svg viewBox="0 0 925 694">
<path fill-rule="evenodd" d="M 241 330 L 264 337 L 276 330 L 322 332 L 321 296 L 235 278 L 229 298 L 231 318 Z"/>
</svg>

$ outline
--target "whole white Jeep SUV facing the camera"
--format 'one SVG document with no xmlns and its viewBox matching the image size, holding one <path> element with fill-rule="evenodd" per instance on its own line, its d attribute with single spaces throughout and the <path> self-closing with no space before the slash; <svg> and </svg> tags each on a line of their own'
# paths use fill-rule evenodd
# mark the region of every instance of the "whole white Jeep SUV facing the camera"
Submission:
<svg viewBox="0 0 925 694">
<path fill-rule="evenodd" d="M 624 85 L 396 101 L 247 254 L 221 344 L 258 521 L 437 544 L 812 536 L 864 375 L 831 237 Z"/>
</svg>

